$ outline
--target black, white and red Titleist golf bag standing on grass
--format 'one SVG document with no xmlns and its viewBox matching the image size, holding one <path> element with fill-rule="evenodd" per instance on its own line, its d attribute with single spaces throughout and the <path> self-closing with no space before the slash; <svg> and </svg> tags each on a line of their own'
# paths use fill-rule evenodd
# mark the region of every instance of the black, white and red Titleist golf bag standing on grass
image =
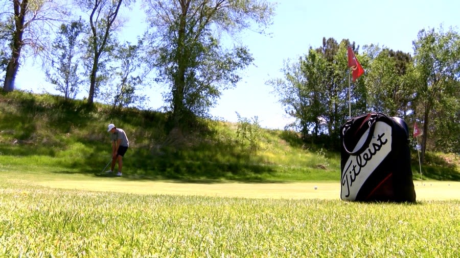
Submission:
<svg viewBox="0 0 460 258">
<path fill-rule="evenodd" d="M 340 126 L 340 198 L 415 202 L 406 122 L 382 113 L 351 118 Z"/>
</svg>

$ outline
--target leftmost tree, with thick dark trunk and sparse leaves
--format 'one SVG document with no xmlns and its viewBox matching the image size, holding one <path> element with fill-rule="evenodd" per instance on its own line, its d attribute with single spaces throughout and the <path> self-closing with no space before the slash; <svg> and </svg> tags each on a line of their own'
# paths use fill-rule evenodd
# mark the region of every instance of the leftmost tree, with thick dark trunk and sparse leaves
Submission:
<svg viewBox="0 0 460 258">
<path fill-rule="evenodd" d="M 67 16 L 59 3 L 51 0 L 13 0 L 11 15 L 7 18 L 10 53 L 2 63 L 6 64 L 3 89 L 14 90 L 14 80 L 20 65 L 21 51 L 29 46 L 33 55 L 48 54 L 48 42 L 54 22 Z M 45 59 L 45 57 L 43 57 Z"/>
</svg>

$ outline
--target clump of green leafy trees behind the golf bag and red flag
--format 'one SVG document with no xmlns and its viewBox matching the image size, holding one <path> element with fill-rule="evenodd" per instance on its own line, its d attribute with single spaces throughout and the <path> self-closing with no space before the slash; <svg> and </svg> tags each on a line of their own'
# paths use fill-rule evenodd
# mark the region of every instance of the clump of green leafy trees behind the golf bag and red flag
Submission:
<svg viewBox="0 0 460 258">
<path fill-rule="evenodd" d="M 298 59 L 285 62 L 284 78 L 268 81 L 274 88 L 291 125 L 302 134 L 305 143 L 339 148 L 338 129 L 348 117 L 350 93 L 351 116 L 382 112 L 398 116 L 412 125 L 423 125 L 422 161 L 425 149 L 460 152 L 458 130 L 460 119 L 460 36 L 449 29 L 439 32 L 422 30 L 413 41 L 413 57 L 402 51 L 378 45 L 364 47 L 358 55 L 365 74 L 348 86 L 346 48 L 323 38 L 323 45 Z M 430 135 L 430 138 L 428 138 Z"/>
</svg>

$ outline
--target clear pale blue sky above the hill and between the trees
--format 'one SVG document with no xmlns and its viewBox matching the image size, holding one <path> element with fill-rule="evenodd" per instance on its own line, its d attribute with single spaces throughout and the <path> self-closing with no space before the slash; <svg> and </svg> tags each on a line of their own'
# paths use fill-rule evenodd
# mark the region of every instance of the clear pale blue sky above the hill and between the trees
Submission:
<svg viewBox="0 0 460 258">
<path fill-rule="evenodd" d="M 283 61 L 296 60 L 306 54 L 310 46 L 320 46 L 323 37 L 333 37 L 338 42 L 348 38 L 361 48 L 366 44 L 378 44 L 413 54 L 412 41 L 417 39 L 420 30 L 438 30 L 441 24 L 445 30 L 453 27 L 458 32 L 460 28 L 460 1 L 454 0 L 279 2 L 273 24 L 268 29 L 270 37 L 254 32 L 241 34 L 241 42 L 255 59 L 254 65 L 242 71 L 243 80 L 236 88 L 223 91 L 218 105 L 211 110 L 213 116 L 236 122 L 238 112 L 246 118 L 257 116 L 263 127 L 283 128 L 290 118 L 265 82 L 282 78 Z M 137 22 L 140 21 L 131 20 L 125 30 L 132 31 Z M 136 34 L 129 36 L 134 42 Z M 37 64 L 20 68 L 16 87 L 37 93 L 54 92 L 53 87 L 44 82 Z M 147 92 L 150 107 L 163 106 L 161 93 L 165 90 L 153 88 Z M 83 90 L 80 95 L 87 93 Z"/>
</svg>

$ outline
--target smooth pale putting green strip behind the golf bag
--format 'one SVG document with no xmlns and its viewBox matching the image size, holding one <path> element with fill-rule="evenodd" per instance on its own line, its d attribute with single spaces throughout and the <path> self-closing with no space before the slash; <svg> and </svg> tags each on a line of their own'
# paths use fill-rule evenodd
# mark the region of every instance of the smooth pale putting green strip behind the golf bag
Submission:
<svg viewBox="0 0 460 258">
<path fill-rule="evenodd" d="M 319 183 L 175 183 L 149 180 L 129 180 L 119 177 L 96 180 L 44 180 L 36 185 L 87 191 L 134 194 L 202 195 L 245 198 L 339 199 L 340 184 Z M 415 181 L 417 200 L 460 199 L 460 182 Z M 317 189 L 315 189 L 315 186 Z"/>
</svg>

